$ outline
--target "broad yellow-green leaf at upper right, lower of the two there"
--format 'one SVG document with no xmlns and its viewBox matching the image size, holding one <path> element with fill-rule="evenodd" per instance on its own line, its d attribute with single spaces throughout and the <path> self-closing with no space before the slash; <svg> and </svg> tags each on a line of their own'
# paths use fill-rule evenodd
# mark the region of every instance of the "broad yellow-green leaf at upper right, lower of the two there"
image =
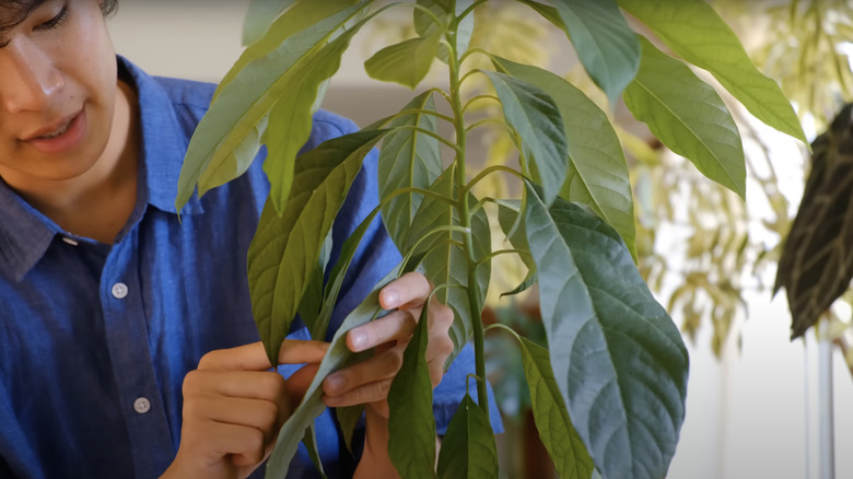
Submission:
<svg viewBox="0 0 853 479">
<path fill-rule="evenodd" d="M 640 73 L 624 92 L 628 109 L 703 175 L 745 198 L 744 148 L 723 98 L 686 65 L 642 44 Z"/>
</svg>

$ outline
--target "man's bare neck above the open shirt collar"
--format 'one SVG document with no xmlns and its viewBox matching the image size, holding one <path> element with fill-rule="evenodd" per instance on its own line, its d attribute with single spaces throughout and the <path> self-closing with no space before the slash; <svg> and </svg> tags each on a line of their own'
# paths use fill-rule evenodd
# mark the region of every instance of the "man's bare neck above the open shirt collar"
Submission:
<svg viewBox="0 0 853 479">
<path fill-rule="evenodd" d="M 109 140 L 97 162 L 78 177 L 28 184 L 17 192 L 63 230 L 112 244 L 136 205 L 138 118 L 136 92 L 119 82 Z"/>
</svg>

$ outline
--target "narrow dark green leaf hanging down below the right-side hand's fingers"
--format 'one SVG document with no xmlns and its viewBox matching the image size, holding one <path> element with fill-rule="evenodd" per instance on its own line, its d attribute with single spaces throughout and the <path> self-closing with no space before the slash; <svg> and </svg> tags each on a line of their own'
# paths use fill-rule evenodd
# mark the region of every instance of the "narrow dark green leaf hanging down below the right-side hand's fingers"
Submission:
<svg viewBox="0 0 853 479">
<path fill-rule="evenodd" d="M 388 390 L 388 456 L 401 477 L 435 477 L 435 416 L 426 365 L 429 302 Z"/>
</svg>

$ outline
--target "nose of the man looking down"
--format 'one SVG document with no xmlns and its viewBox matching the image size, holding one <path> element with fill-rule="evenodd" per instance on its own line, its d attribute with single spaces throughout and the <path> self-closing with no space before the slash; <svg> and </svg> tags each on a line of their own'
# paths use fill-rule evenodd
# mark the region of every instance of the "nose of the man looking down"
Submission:
<svg viewBox="0 0 853 479">
<path fill-rule="evenodd" d="M 22 38 L 0 49 L 0 105 L 9 113 L 47 109 L 63 84 L 51 58 L 32 43 Z"/>
</svg>

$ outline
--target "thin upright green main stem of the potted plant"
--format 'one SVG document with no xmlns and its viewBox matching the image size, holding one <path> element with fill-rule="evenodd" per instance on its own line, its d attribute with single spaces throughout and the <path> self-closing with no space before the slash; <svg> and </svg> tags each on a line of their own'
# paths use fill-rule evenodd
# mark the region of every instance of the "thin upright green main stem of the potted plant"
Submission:
<svg viewBox="0 0 853 479">
<path fill-rule="evenodd" d="M 455 7 L 454 7 L 455 8 Z M 454 25 L 455 26 L 455 25 Z M 475 256 L 474 249 L 474 235 L 471 233 L 471 213 L 468 205 L 468 191 L 466 190 L 466 175 L 465 175 L 465 153 L 467 144 L 468 130 L 465 127 L 465 109 L 461 102 L 461 81 L 459 75 L 459 62 L 458 51 L 456 50 L 456 30 L 453 30 L 453 38 L 449 42 L 451 55 L 448 55 L 449 74 L 451 74 L 451 107 L 453 108 L 453 116 L 455 118 L 456 126 L 456 144 L 458 149 L 456 151 L 456 182 L 459 191 L 459 198 L 457 202 L 457 211 L 459 214 L 459 221 L 461 225 L 467 230 L 463 234 L 465 243 L 465 252 L 468 255 L 468 309 L 471 316 L 471 326 L 474 329 L 474 355 L 475 367 L 477 373 L 477 404 L 489 419 L 489 396 L 486 388 L 486 360 L 484 360 L 484 346 L 483 346 L 483 327 L 482 319 L 480 317 L 480 299 L 478 297 L 478 281 L 477 281 L 477 266 L 478 260 Z"/>
</svg>

